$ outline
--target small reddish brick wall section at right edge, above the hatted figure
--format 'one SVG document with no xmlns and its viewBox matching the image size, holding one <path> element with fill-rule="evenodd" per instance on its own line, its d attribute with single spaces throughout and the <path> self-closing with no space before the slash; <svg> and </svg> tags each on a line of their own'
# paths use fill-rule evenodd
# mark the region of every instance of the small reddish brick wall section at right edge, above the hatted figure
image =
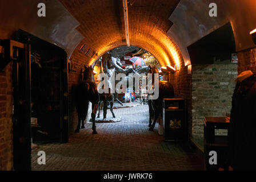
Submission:
<svg viewBox="0 0 256 182">
<path fill-rule="evenodd" d="M 247 70 L 256 73 L 256 47 L 238 52 L 238 73 Z"/>
</svg>

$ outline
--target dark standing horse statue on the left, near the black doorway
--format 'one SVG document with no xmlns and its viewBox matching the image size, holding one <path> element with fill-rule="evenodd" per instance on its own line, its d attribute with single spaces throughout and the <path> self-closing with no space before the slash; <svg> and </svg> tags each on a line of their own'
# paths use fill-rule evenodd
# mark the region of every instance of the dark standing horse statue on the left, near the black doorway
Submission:
<svg viewBox="0 0 256 182">
<path fill-rule="evenodd" d="M 89 101 L 92 104 L 91 118 L 93 121 L 93 134 L 97 134 L 95 126 L 95 116 L 98 108 L 99 94 L 97 84 L 94 82 L 93 68 L 85 67 L 83 81 L 79 82 L 75 88 L 75 106 L 78 113 L 78 125 L 75 133 L 79 133 L 82 121 L 82 129 L 85 128 L 85 118 L 88 111 Z"/>
</svg>

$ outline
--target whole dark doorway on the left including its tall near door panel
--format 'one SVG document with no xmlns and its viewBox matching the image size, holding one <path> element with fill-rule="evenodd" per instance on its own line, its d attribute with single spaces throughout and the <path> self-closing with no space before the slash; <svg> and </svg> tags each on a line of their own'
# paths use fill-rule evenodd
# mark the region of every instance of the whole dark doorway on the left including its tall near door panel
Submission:
<svg viewBox="0 0 256 182">
<path fill-rule="evenodd" d="M 69 140 L 67 55 L 25 31 L 14 35 L 25 45 L 13 64 L 14 169 L 30 170 L 31 142 Z"/>
</svg>

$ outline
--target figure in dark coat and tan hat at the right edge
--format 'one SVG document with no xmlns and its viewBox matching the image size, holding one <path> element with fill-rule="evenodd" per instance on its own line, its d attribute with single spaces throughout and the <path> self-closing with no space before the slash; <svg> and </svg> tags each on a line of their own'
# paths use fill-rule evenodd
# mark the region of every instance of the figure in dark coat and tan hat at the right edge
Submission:
<svg viewBox="0 0 256 182">
<path fill-rule="evenodd" d="M 256 170 L 256 74 L 237 78 L 228 132 L 228 165 L 235 171 Z"/>
</svg>

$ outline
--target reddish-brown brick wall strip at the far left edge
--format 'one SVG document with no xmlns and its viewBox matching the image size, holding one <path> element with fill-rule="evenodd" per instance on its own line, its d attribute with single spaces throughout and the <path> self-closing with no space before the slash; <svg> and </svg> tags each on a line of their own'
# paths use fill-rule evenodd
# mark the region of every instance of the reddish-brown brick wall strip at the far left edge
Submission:
<svg viewBox="0 0 256 182">
<path fill-rule="evenodd" d="M 0 171 L 13 169 L 11 63 L 0 73 Z"/>
</svg>

